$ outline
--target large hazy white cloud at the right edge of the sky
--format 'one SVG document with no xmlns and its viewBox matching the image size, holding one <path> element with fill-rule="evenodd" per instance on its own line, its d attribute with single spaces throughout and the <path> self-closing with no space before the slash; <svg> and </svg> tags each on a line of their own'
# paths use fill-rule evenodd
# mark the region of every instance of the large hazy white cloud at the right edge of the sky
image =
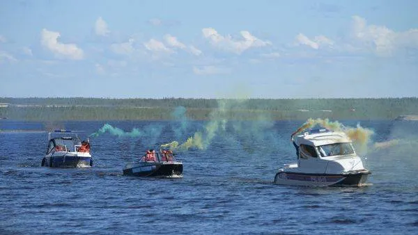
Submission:
<svg viewBox="0 0 418 235">
<path fill-rule="evenodd" d="M 360 47 L 379 56 L 390 56 L 400 48 L 418 48 L 418 29 L 395 32 L 386 26 L 367 25 L 366 19 L 357 15 L 353 16 L 352 35 Z"/>
</svg>

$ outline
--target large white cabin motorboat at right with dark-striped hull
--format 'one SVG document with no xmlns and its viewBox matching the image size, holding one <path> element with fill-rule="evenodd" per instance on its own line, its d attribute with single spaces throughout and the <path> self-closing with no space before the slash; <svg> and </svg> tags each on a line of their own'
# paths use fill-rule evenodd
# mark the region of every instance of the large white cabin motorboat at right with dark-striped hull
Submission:
<svg viewBox="0 0 418 235">
<path fill-rule="evenodd" d="M 286 164 L 274 184 L 297 186 L 363 186 L 371 174 L 342 131 L 314 129 L 292 136 L 297 163 Z"/>
</svg>

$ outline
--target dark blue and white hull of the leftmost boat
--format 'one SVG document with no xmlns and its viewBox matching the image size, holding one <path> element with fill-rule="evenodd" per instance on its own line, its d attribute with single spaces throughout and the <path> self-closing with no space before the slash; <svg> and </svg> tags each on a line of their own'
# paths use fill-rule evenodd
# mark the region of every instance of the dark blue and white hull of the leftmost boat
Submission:
<svg viewBox="0 0 418 235">
<path fill-rule="evenodd" d="M 93 166 L 91 156 L 45 156 L 42 166 L 50 168 L 88 168 Z"/>
</svg>

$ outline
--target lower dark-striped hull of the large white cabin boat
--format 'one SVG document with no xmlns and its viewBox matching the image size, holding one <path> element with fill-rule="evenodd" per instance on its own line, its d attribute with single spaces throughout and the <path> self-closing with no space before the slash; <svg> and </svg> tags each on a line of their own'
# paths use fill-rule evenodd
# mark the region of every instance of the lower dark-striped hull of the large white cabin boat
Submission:
<svg viewBox="0 0 418 235">
<path fill-rule="evenodd" d="M 295 186 L 348 186 L 359 187 L 366 184 L 369 170 L 348 174 L 309 174 L 300 172 L 277 172 L 274 184 Z"/>
</svg>

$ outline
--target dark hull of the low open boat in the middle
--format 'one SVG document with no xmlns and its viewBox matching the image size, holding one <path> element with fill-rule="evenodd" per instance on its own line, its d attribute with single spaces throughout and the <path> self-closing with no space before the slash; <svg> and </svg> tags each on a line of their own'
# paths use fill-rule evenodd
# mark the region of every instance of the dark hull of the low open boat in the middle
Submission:
<svg viewBox="0 0 418 235">
<path fill-rule="evenodd" d="M 139 163 L 123 169 L 123 175 L 138 177 L 171 177 L 182 174 L 182 163 Z"/>
</svg>

